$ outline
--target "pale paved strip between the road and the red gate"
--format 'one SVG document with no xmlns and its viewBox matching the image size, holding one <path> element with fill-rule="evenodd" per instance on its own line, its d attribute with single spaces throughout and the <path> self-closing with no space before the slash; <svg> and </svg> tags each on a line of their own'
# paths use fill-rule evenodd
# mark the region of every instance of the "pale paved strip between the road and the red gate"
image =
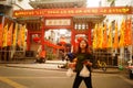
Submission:
<svg viewBox="0 0 133 88">
<path fill-rule="evenodd" d="M 58 66 L 62 66 L 65 62 L 62 61 L 47 61 L 45 64 L 38 64 L 38 63 L 29 63 L 29 64 L 4 64 L 9 67 L 20 67 L 20 68 L 33 68 L 33 69 L 55 69 L 55 70 L 66 70 L 64 68 L 59 68 Z M 104 73 L 101 68 L 93 69 L 93 73 Z M 116 74 L 121 73 L 117 68 L 108 68 L 106 74 Z"/>
</svg>

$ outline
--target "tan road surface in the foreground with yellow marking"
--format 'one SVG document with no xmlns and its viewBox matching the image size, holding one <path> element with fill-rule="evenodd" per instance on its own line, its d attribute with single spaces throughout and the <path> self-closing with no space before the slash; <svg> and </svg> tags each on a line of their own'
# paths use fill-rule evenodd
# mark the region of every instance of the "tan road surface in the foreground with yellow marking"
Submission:
<svg viewBox="0 0 133 88">
<path fill-rule="evenodd" d="M 72 88 L 66 70 L 0 66 L 0 88 Z M 93 88 L 133 88 L 133 80 L 119 74 L 92 74 Z M 85 88 L 84 82 L 80 88 Z"/>
</svg>

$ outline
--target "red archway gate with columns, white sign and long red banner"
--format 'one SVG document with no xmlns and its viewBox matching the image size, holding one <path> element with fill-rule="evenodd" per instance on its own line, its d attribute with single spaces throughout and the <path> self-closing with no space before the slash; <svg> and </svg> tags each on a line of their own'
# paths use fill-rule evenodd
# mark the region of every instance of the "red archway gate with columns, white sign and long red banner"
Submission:
<svg viewBox="0 0 133 88">
<path fill-rule="evenodd" d="M 39 16 L 41 18 L 41 28 L 39 31 L 33 31 L 29 28 L 29 33 L 41 34 L 41 44 L 48 43 L 43 37 L 45 31 L 49 29 L 69 29 L 71 30 L 71 44 L 75 45 L 75 35 L 85 34 L 88 36 L 89 45 L 92 47 L 92 29 L 96 23 L 101 23 L 108 14 L 132 14 L 131 7 L 104 7 L 104 8 L 74 8 L 74 9 L 38 9 L 38 10 L 24 10 L 14 11 L 13 16 L 16 18 L 29 18 Z M 31 30 L 30 30 L 31 29 Z M 28 34 L 28 50 L 30 50 L 30 34 Z M 99 34 L 99 33 L 98 33 Z M 110 36 L 109 36 L 110 37 Z M 94 37 L 93 37 L 94 38 Z M 105 38 L 104 38 L 105 40 Z M 101 40 L 99 40 L 101 42 Z M 102 45 L 102 43 L 100 43 Z M 53 45 L 54 46 L 54 45 Z M 74 48 L 74 47 L 73 47 Z M 43 48 L 44 50 L 44 48 Z M 101 50 L 101 47 L 100 47 Z"/>
</svg>

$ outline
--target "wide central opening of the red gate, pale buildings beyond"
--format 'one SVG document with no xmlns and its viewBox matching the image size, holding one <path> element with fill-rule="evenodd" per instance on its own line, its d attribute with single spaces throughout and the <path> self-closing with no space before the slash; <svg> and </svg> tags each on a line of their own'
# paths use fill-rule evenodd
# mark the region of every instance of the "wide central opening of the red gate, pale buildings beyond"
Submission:
<svg viewBox="0 0 133 88">
<path fill-rule="evenodd" d="M 48 59 L 64 59 L 64 55 L 71 52 L 71 30 L 47 30 L 44 33 L 44 50 Z"/>
</svg>

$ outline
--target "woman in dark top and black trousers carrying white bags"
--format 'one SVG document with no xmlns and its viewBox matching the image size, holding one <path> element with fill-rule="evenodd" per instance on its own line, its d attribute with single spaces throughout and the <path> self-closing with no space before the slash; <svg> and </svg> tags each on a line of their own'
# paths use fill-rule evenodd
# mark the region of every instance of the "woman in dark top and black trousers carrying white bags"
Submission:
<svg viewBox="0 0 133 88">
<path fill-rule="evenodd" d="M 86 88 L 92 88 L 91 66 L 93 56 L 88 50 L 88 41 L 80 41 L 78 52 L 75 53 L 75 58 L 73 59 L 74 65 L 70 65 L 70 67 L 75 67 L 76 73 L 72 88 L 79 88 L 82 80 L 84 80 Z M 88 77 L 83 77 L 80 75 L 81 70 L 83 69 L 83 66 L 85 66 L 89 70 Z"/>
</svg>

